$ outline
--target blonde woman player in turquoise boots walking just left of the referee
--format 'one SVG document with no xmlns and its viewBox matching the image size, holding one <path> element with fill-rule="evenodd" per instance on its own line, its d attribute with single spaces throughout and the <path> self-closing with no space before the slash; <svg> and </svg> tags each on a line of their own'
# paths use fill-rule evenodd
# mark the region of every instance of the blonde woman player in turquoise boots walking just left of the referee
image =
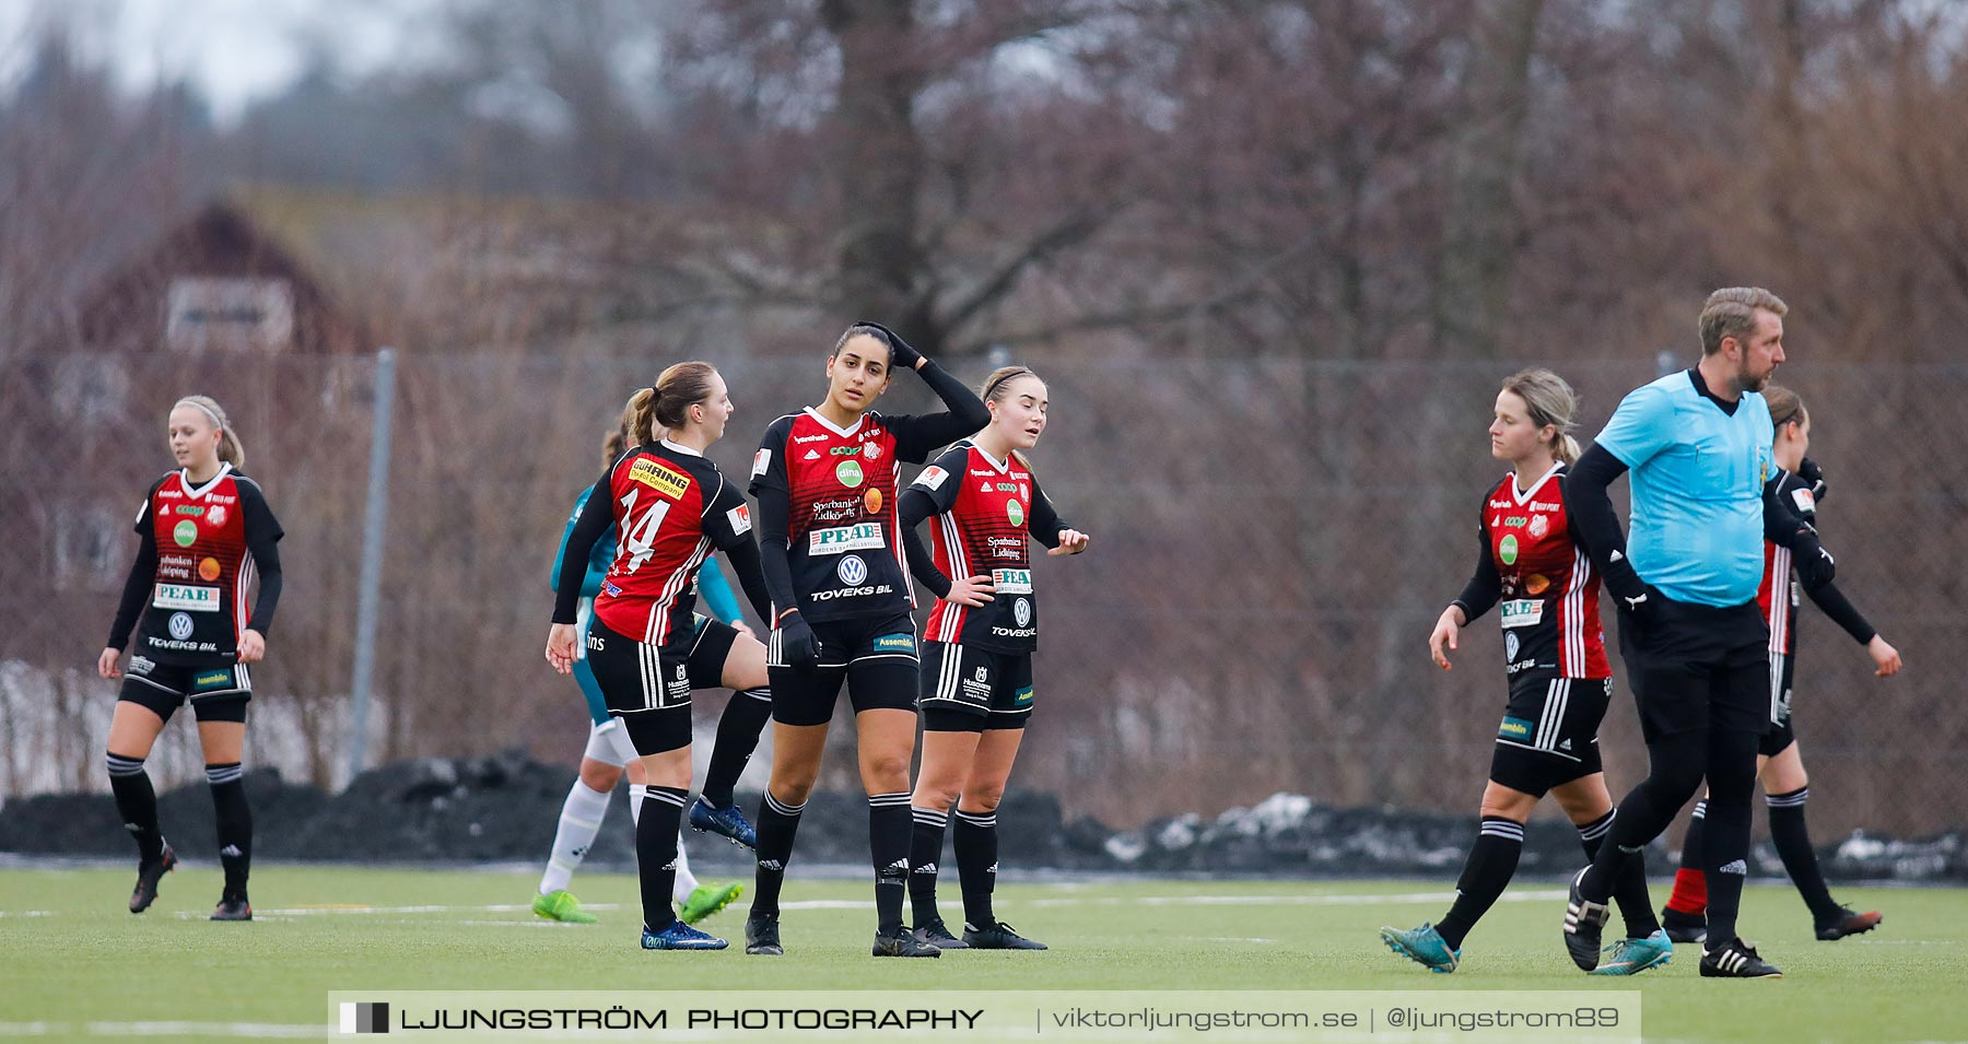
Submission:
<svg viewBox="0 0 1968 1044">
<path fill-rule="evenodd" d="M 1523 824 L 1547 792 L 1578 828 L 1586 855 L 1612 828 L 1612 796 L 1600 771 L 1598 724 L 1612 698 L 1612 667 L 1600 631 L 1600 578 L 1580 549 L 1565 511 L 1565 468 L 1578 460 L 1568 435 L 1578 399 L 1549 370 L 1523 370 L 1504 381 L 1490 423 L 1490 456 L 1511 472 L 1484 495 L 1476 521 L 1476 574 L 1429 635 L 1429 653 L 1448 670 L 1462 627 L 1502 600 L 1504 661 L 1509 704 L 1496 733 L 1482 824 L 1470 847 L 1456 900 L 1439 924 L 1382 928 L 1382 942 L 1431 971 L 1462 963 L 1462 938 L 1490 908 L 1523 851 Z M 1628 938 L 1596 967 L 1631 975 L 1673 954 L 1653 920 L 1643 865 L 1635 859 L 1616 897 Z"/>
</svg>

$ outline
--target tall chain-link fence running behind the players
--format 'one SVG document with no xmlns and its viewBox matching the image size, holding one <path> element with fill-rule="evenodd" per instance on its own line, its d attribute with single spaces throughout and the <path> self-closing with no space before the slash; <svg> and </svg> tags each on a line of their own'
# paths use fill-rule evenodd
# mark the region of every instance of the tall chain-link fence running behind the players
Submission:
<svg viewBox="0 0 1968 1044">
<path fill-rule="evenodd" d="M 584 714 L 543 647 L 549 558 L 600 436 L 657 366 L 407 354 L 398 366 L 370 761 L 525 745 L 573 761 Z M 710 456 L 742 476 L 756 433 L 823 391 L 819 360 L 722 364 L 738 417 Z M 978 377 L 982 364 L 958 366 Z M 1017 786 L 1116 826 L 1275 790 L 1334 804 L 1472 808 L 1504 706 L 1494 619 L 1454 672 L 1425 651 L 1474 562 L 1490 403 L 1504 364 L 1049 362 L 1033 454 L 1078 558 L 1039 558 L 1047 631 Z M 1582 435 L 1651 360 L 1568 362 Z M 287 588 L 254 672 L 248 761 L 340 783 L 374 401 L 372 358 L 49 354 L 0 362 L 0 786 L 100 788 L 114 686 L 92 663 L 130 564 L 130 523 L 169 458 L 185 391 L 230 411 L 287 529 Z M 1968 366 L 1793 364 L 1840 584 L 1907 659 L 1891 680 L 1807 609 L 1797 722 L 1824 836 L 1968 824 L 1935 786 L 1968 769 L 1968 460 L 1933 440 L 1968 409 Z M 933 399 L 909 376 L 884 407 Z M 1608 619 L 1612 617 L 1608 609 Z M 714 700 L 707 700 L 714 706 Z M 701 710 L 701 718 L 710 718 Z M 844 725 L 844 720 L 842 720 Z M 836 727 L 842 737 L 848 727 Z M 1624 682 L 1602 729 L 1616 792 L 1645 767 Z M 191 729 L 152 759 L 197 777 Z M 852 759 L 823 784 L 852 788 Z"/>
</svg>

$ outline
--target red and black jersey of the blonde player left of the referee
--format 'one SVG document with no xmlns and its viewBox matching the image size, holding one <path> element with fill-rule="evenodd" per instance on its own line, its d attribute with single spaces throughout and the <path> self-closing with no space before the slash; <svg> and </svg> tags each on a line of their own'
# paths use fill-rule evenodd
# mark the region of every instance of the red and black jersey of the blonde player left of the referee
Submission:
<svg viewBox="0 0 1968 1044">
<path fill-rule="evenodd" d="M 1610 678 L 1600 629 L 1600 578 L 1570 533 L 1565 511 L 1565 466 L 1555 464 L 1527 492 L 1507 474 L 1484 497 L 1476 578 L 1464 590 L 1468 619 L 1490 602 L 1504 609 L 1504 661 L 1509 676 Z"/>
</svg>

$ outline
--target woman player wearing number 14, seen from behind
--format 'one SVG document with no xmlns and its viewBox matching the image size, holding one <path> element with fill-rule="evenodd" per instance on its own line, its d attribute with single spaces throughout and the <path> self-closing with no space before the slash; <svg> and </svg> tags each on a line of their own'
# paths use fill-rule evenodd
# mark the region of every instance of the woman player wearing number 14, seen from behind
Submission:
<svg viewBox="0 0 1968 1044">
<path fill-rule="evenodd" d="M 642 948 L 722 950 L 724 940 L 683 924 L 669 904 L 677 826 L 691 792 L 691 690 L 760 688 L 766 647 L 693 611 L 697 570 L 710 551 L 724 552 L 762 617 L 769 619 L 771 609 L 744 493 L 705 458 L 732 415 L 724 377 L 708 362 L 679 362 L 632 407 L 638 446 L 594 484 L 561 551 L 547 663 L 573 672 L 581 578 L 612 521 L 620 533 L 616 558 L 594 596 L 586 659 L 647 781 L 636 822 Z M 657 429 L 667 431 L 659 442 Z"/>
</svg>

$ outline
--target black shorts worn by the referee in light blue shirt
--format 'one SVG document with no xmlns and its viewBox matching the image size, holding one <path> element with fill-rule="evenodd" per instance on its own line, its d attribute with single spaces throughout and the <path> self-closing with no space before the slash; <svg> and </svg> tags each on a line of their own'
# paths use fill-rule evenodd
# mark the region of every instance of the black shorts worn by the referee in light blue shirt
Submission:
<svg viewBox="0 0 1968 1044">
<path fill-rule="evenodd" d="M 1661 598 L 1643 627 L 1622 613 L 1620 655 L 1647 743 L 1696 729 L 1769 731 L 1769 623 L 1755 602 Z"/>
</svg>

